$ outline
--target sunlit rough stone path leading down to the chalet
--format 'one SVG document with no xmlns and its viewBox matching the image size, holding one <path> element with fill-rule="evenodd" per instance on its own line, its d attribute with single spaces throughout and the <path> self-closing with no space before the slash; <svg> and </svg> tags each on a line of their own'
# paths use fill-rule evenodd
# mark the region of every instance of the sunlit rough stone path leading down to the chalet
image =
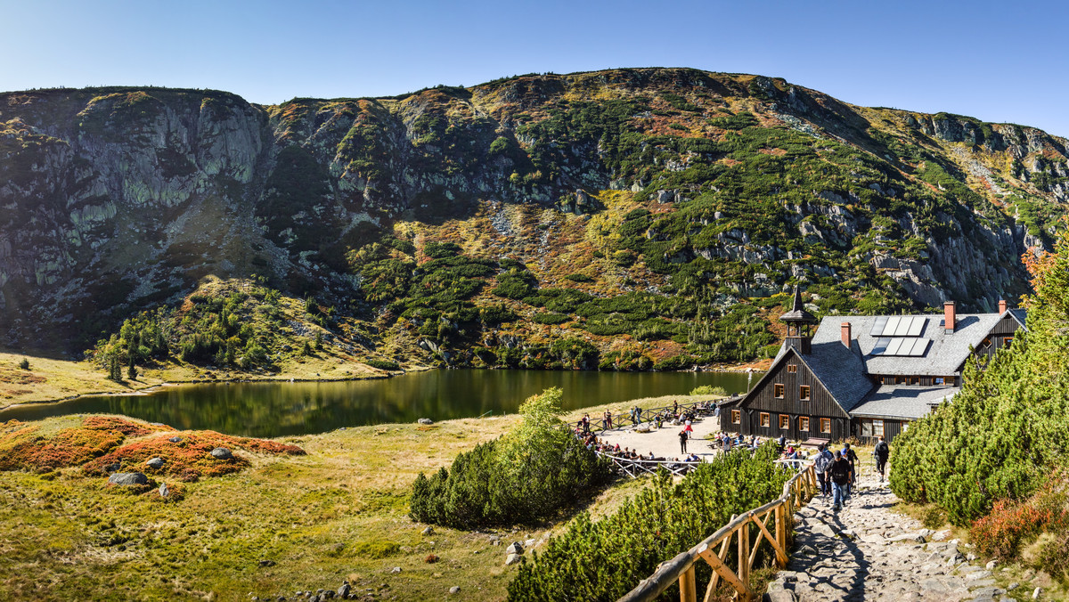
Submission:
<svg viewBox="0 0 1069 602">
<path fill-rule="evenodd" d="M 769 585 L 766 600 L 1012 600 L 995 585 L 993 565 L 971 564 L 963 544 L 943 541 L 949 531 L 923 529 L 894 512 L 898 498 L 886 484 L 866 476 L 858 485 L 839 512 L 820 496 L 799 510 L 791 561 Z"/>
</svg>

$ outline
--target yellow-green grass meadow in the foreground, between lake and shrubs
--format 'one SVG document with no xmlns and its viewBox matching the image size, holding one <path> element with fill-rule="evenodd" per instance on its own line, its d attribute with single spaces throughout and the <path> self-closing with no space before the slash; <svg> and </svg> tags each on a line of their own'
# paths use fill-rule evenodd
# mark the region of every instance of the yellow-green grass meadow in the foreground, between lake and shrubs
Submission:
<svg viewBox="0 0 1069 602">
<path fill-rule="evenodd" d="M 601 415 L 606 408 L 617 413 L 636 403 L 670 404 L 679 397 L 590 407 L 564 418 L 574 421 L 584 412 Z M 84 419 L 49 418 L 21 427 L 53 436 Z M 111 417 L 90 420 L 115 426 Z M 307 456 L 234 446 L 242 461 L 237 473 L 182 482 L 166 469 L 150 472 L 157 482 L 182 493 L 175 501 L 162 500 L 155 490 L 109 488 L 103 476 L 80 467 L 0 472 L 0 599 L 214 593 L 220 600 L 246 600 L 250 592 L 274 598 L 337 589 L 348 580 L 356 590 L 371 589 L 381 599 L 440 598 L 459 585 L 465 600 L 500 600 L 515 570 L 505 566 L 503 545 L 493 545 L 484 532 L 435 527 L 432 536 L 421 535 L 423 525 L 407 516 L 408 495 L 419 472 L 448 466 L 458 452 L 499 436 L 517 421 L 518 416 L 507 415 L 431 427 L 378 425 L 276 439 Z M 119 449 L 173 436 L 127 430 L 131 434 Z M 645 485 L 646 480 L 620 481 L 584 508 L 604 515 Z M 505 544 L 541 540 L 562 528 L 568 518 L 501 529 L 498 536 Z M 431 554 L 439 559 L 427 562 Z M 392 573 L 394 567 L 401 572 Z"/>
</svg>

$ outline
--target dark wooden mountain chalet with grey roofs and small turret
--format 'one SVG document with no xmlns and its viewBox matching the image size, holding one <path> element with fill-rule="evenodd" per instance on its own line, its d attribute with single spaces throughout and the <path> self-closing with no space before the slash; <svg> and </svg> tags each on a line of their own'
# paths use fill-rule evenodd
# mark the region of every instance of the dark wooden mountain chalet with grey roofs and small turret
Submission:
<svg viewBox="0 0 1069 602">
<path fill-rule="evenodd" d="M 830 315 L 805 310 L 797 288 L 780 317 L 787 337 L 769 372 L 721 407 L 721 429 L 761 437 L 890 441 L 954 397 L 971 357 L 986 367 L 1024 327 L 1024 310 L 943 315 Z"/>
</svg>

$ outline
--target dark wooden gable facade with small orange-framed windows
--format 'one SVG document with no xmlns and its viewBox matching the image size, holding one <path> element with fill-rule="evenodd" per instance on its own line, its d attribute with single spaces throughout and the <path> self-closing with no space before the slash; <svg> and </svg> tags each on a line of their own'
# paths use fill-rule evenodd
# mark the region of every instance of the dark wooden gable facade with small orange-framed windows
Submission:
<svg viewBox="0 0 1069 602">
<path fill-rule="evenodd" d="M 849 437 L 850 415 L 836 403 L 794 349 L 787 354 L 754 386 L 745 404 L 721 413 L 722 428 L 744 435 L 769 438 L 784 435 L 795 441 Z M 804 399 L 806 392 L 809 399 Z"/>
</svg>

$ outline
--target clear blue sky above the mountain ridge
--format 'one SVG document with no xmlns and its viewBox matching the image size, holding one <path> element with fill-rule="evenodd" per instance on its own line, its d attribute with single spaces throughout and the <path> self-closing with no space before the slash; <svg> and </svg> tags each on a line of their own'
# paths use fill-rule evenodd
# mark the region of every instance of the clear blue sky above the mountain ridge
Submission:
<svg viewBox="0 0 1069 602">
<path fill-rule="evenodd" d="M 0 0 L 0 91 L 152 84 L 275 104 L 690 66 L 1069 137 L 1069 4 L 1014 4 Z"/>
</svg>

